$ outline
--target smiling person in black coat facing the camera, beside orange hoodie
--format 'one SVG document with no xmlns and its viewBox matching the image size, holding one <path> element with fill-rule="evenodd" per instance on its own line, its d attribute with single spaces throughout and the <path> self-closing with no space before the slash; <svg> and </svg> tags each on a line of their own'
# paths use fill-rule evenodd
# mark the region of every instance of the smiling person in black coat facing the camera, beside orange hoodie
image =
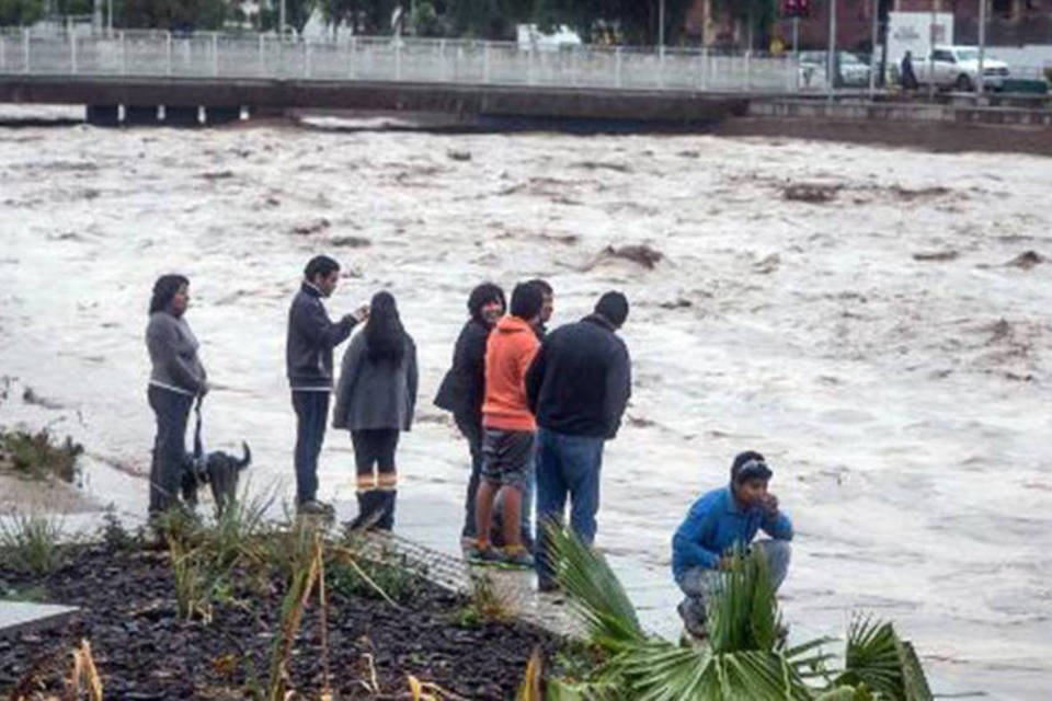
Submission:
<svg viewBox="0 0 1052 701">
<path fill-rule="evenodd" d="M 485 342 L 506 309 L 504 290 L 482 283 L 468 297 L 469 319 L 453 350 L 453 367 L 435 395 L 435 405 L 453 412 L 460 434 L 468 440 L 471 475 L 464 499 L 461 547 L 474 544 L 474 496 L 482 475 L 482 401 L 485 398 Z"/>
</svg>

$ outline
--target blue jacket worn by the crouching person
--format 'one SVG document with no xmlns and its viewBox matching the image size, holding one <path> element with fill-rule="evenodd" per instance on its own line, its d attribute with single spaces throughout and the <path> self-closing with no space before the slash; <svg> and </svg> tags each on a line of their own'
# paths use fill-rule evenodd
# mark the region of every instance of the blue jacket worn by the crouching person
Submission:
<svg viewBox="0 0 1052 701">
<path fill-rule="evenodd" d="M 678 582 L 690 567 L 717 568 L 721 555 L 735 543 L 747 548 L 758 530 L 792 540 L 792 522 L 780 510 L 771 515 L 758 506 L 743 509 L 730 486 L 712 490 L 694 503 L 672 537 L 673 576 Z"/>
</svg>

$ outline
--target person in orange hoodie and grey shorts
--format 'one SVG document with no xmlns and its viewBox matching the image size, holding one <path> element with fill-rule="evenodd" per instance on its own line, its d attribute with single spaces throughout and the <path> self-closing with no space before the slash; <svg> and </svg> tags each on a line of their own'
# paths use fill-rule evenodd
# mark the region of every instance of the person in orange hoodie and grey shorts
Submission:
<svg viewBox="0 0 1052 701">
<path fill-rule="evenodd" d="M 526 400 L 526 370 L 539 342 L 534 324 L 544 296 L 529 283 L 512 292 L 510 313 L 502 318 L 485 345 L 485 400 L 482 403 L 482 481 L 476 496 L 478 543 L 468 559 L 518 567 L 533 567 L 534 559 L 523 547 L 519 519 L 523 494 L 533 466 L 537 424 Z M 503 491 L 504 542 L 502 551 L 490 545 L 493 502 Z"/>
</svg>

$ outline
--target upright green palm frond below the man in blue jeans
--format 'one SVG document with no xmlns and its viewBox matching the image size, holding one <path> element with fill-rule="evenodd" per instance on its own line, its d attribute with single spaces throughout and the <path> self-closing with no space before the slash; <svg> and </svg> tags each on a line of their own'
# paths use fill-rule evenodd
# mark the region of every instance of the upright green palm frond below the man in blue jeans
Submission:
<svg viewBox="0 0 1052 701">
<path fill-rule="evenodd" d="M 567 529 L 547 524 L 545 533 L 556 560 L 556 576 L 597 645 L 619 650 L 645 639 L 636 608 L 606 559 Z"/>
</svg>

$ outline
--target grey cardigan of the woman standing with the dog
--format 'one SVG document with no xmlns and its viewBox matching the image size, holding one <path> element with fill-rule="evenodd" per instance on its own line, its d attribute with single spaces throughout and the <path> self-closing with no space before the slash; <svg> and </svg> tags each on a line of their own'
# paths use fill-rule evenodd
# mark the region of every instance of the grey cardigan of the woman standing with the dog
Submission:
<svg viewBox="0 0 1052 701">
<path fill-rule="evenodd" d="M 197 338 L 185 319 L 167 311 L 150 314 L 146 348 L 153 366 L 150 384 L 184 394 L 202 393 L 207 375 L 197 357 Z"/>
</svg>

